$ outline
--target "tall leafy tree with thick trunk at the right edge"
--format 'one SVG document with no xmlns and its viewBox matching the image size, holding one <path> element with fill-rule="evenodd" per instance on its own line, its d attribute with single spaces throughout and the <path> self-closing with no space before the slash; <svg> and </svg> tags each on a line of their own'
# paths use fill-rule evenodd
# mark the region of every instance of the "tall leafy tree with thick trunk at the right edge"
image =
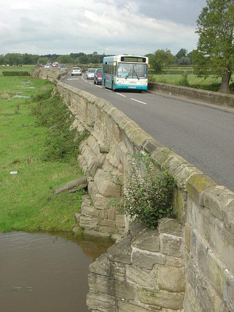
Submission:
<svg viewBox="0 0 234 312">
<path fill-rule="evenodd" d="M 195 74 L 221 77 L 222 93 L 229 93 L 234 70 L 234 0 L 207 0 L 197 20 L 199 35 L 194 52 Z"/>
</svg>

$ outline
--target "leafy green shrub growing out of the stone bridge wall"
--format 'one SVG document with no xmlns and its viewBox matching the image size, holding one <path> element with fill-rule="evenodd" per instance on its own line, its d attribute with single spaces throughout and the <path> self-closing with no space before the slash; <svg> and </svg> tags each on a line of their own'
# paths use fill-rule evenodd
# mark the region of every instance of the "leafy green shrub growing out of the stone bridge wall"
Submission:
<svg viewBox="0 0 234 312">
<path fill-rule="evenodd" d="M 173 217 L 172 191 L 175 180 L 165 168 L 169 153 L 163 151 L 160 170 L 159 163 L 152 160 L 149 154 L 133 155 L 129 160 L 131 173 L 124 184 L 119 176 L 110 171 L 112 182 L 122 184 L 124 189 L 123 198 L 112 200 L 110 205 L 122 214 L 143 221 L 151 229 L 157 226 L 157 220 L 163 216 Z"/>
</svg>

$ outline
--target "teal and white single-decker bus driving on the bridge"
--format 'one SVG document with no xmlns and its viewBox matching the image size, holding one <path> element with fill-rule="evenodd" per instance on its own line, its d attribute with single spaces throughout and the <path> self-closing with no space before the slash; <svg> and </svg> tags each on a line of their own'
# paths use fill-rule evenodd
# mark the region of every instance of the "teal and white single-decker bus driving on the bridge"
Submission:
<svg viewBox="0 0 234 312">
<path fill-rule="evenodd" d="M 102 85 L 112 90 L 147 90 L 148 58 L 117 55 L 103 58 Z"/>
</svg>

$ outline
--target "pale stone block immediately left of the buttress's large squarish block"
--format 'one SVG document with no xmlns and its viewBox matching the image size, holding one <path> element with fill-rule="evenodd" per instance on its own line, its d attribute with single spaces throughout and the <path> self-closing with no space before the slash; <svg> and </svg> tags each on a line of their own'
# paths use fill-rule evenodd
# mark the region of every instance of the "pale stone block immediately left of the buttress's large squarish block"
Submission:
<svg viewBox="0 0 234 312">
<path fill-rule="evenodd" d="M 126 265 L 126 281 L 137 286 L 153 288 L 156 282 L 155 270 L 145 270 L 132 265 Z"/>
</svg>

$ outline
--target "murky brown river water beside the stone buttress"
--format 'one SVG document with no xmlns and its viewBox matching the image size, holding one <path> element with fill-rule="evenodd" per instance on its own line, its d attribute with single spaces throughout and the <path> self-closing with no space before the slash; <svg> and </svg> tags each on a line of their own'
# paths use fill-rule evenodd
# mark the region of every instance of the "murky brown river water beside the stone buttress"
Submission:
<svg viewBox="0 0 234 312">
<path fill-rule="evenodd" d="M 0 312 L 87 312 L 88 267 L 113 243 L 0 233 Z"/>
</svg>

